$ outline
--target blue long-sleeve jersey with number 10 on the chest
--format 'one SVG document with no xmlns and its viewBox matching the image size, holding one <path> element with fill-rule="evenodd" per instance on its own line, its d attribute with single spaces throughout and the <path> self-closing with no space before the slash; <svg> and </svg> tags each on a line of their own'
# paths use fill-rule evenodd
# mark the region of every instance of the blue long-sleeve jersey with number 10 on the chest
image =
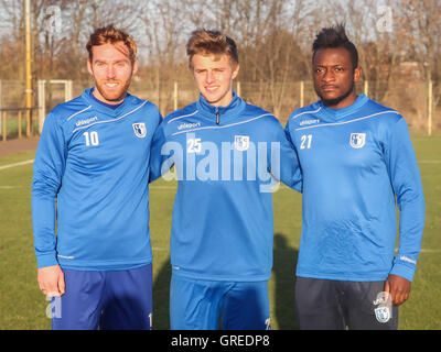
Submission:
<svg viewBox="0 0 441 352">
<path fill-rule="evenodd" d="M 49 113 L 32 183 L 39 267 L 106 271 L 151 263 L 150 144 L 161 120 L 149 101 L 128 94 L 110 109 L 90 89 Z"/>
</svg>

